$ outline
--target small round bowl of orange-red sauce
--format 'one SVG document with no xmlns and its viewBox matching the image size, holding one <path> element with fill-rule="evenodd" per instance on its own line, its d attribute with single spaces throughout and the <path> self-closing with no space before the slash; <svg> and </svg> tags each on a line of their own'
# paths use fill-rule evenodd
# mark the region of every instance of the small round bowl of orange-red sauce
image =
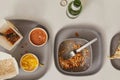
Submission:
<svg viewBox="0 0 120 80">
<path fill-rule="evenodd" d="M 30 40 L 34 45 L 43 45 L 47 41 L 47 33 L 44 29 L 35 28 L 30 33 Z"/>
</svg>

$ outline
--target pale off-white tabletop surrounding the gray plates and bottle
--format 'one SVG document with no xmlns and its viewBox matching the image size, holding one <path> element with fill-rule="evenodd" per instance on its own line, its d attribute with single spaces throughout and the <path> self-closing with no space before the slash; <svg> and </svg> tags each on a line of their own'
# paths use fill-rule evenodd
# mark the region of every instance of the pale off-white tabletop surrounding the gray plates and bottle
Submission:
<svg viewBox="0 0 120 80">
<path fill-rule="evenodd" d="M 60 0 L 0 0 L 0 19 L 28 19 L 46 25 L 51 30 L 52 44 L 54 44 L 56 33 L 64 26 L 71 24 L 96 25 L 102 33 L 105 53 L 101 54 L 105 54 L 105 59 L 98 73 L 83 77 L 63 75 L 56 69 L 52 55 L 51 65 L 40 80 L 120 79 L 120 71 L 113 68 L 108 59 L 111 39 L 120 32 L 120 0 L 85 1 L 80 16 L 77 19 L 69 19 L 66 16 L 66 7 L 61 7 L 59 4 Z"/>
</svg>

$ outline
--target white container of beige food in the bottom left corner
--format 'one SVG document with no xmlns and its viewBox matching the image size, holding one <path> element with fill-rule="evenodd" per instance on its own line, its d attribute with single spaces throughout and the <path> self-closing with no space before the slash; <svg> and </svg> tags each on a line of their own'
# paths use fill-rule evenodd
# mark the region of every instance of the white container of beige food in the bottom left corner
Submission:
<svg viewBox="0 0 120 80">
<path fill-rule="evenodd" d="M 18 71 L 18 64 L 11 55 L 0 52 L 0 80 L 9 79 L 16 76 Z"/>
</svg>

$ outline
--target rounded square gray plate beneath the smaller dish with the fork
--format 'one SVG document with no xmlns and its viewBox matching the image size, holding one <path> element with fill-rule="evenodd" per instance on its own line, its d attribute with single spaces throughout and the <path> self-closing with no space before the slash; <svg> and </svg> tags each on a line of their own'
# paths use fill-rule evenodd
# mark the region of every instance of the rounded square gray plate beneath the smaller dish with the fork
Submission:
<svg viewBox="0 0 120 80">
<path fill-rule="evenodd" d="M 86 39 L 88 41 L 94 39 L 95 37 L 98 39 L 94 44 L 92 44 L 92 65 L 89 69 L 83 72 L 65 72 L 64 70 L 60 69 L 59 63 L 58 63 L 58 49 L 60 46 L 60 43 L 64 41 L 65 39 L 69 38 L 82 38 Z M 61 29 L 56 37 L 55 37 L 55 43 L 54 43 L 54 59 L 55 59 L 55 65 L 57 69 L 67 75 L 73 75 L 73 76 L 85 76 L 85 75 L 92 75 L 96 72 L 98 72 L 103 64 L 103 43 L 102 43 L 102 37 L 100 32 L 97 29 L 94 29 L 91 25 L 71 25 L 67 26 L 63 29 Z"/>
</svg>

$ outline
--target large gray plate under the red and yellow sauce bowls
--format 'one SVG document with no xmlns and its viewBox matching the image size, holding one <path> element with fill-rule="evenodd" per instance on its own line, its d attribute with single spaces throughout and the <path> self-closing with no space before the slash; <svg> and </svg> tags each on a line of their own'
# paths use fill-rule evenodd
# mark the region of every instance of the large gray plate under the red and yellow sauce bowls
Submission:
<svg viewBox="0 0 120 80">
<path fill-rule="evenodd" d="M 38 78 L 41 78 L 47 71 L 50 61 L 51 61 L 51 37 L 50 33 L 48 32 L 47 28 L 45 26 L 40 26 L 42 28 L 45 28 L 49 34 L 49 40 L 47 44 L 43 47 L 34 47 L 32 46 L 28 41 L 28 33 L 31 29 L 36 27 L 37 25 L 40 25 L 37 22 L 28 21 L 28 20 L 10 20 L 21 32 L 23 35 L 23 40 L 21 43 L 14 48 L 12 51 L 7 51 L 4 48 L 0 47 L 0 51 L 5 51 L 10 53 L 12 56 L 14 56 L 17 59 L 17 62 L 19 64 L 20 58 L 23 54 L 26 52 L 34 53 L 40 60 L 41 63 L 44 64 L 43 67 L 38 67 L 38 69 L 35 72 L 29 73 L 24 72 L 20 67 L 20 73 L 16 77 L 10 79 L 10 80 L 37 80 Z"/>
</svg>

